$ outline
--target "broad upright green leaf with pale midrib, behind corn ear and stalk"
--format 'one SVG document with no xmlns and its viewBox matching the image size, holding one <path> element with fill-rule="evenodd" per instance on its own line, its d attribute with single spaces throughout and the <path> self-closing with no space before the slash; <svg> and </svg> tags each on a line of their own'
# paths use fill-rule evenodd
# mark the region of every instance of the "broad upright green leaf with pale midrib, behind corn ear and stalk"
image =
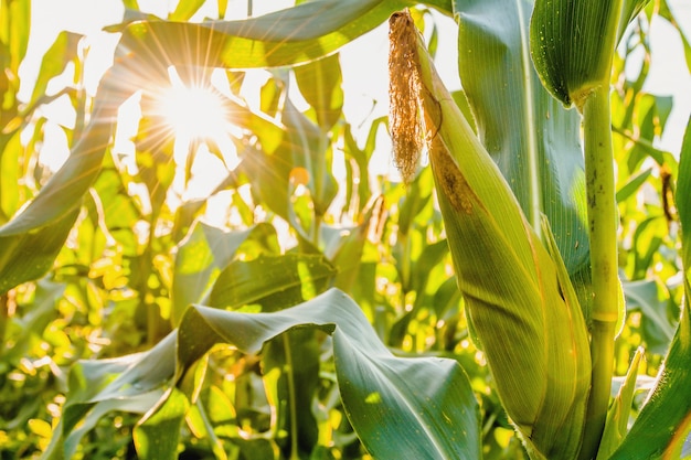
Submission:
<svg viewBox="0 0 691 460">
<path fill-rule="evenodd" d="M 480 141 L 538 233 L 540 216 L 548 216 L 572 281 L 584 286 L 589 248 L 581 119 L 544 89 L 533 68 L 532 3 L 457 0 L 459 74 Z"/>
</svg>

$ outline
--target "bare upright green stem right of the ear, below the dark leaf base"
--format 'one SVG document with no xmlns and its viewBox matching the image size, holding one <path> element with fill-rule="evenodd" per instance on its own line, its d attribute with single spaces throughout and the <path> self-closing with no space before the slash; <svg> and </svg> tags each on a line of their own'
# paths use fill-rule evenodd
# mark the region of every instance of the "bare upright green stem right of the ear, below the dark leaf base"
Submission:
<svg viewBox="0 0 691 460">
<path fill-rule="evenodd" d="M 585 178 L 593 275 L 592 386 L 581 460 L 595 458 L 607 417 L 619 310 L 617 208 L 614 186 L 609 86 L 596 88 L 583 106 Z"/>
</svg>

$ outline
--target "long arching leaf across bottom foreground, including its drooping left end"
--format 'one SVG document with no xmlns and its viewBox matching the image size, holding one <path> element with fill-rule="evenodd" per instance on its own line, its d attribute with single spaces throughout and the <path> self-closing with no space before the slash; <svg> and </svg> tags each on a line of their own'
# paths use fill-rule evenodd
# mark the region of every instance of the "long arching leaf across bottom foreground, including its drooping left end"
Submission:
<svg viewBox="0 0 691 460">
<path fill-rule="evenodd" d="M 45 458 L 63 458 L 62 453 L 70 458 L 75 442 L 94 426 L 94 417 L 108 410 L 141 413 L 159 407 L 163 411 L 157 416 L 153 410 L 142 421 L 138 429 L 147 426 L 146 420 L 150 426 L 137 435 L 140 445 L 141 436 L 150 438 L 163 426 L 178 426 L 183 403 L 177 391 L 167 389 L 174 397 L 170 407 L 161 398 L 174 376 L 182 376 L 214 343 L 255 354 L 267 341 L 294 329 L 331 334 L 346 413 L 374 458 L 395 458 L 401 452 L 416 459 L 481 458 L 479 406 L 458 363 L 395 357 L 361 309 L 336 289 L 273 313 L 194 306 L 185 311 L 180 329 L 148 352 L 79 362 L 71 372 L 62 426 Z M 134 403 L 138 403 L 136 410 Z M 85 429 L 74 430 L 81 420 Z M 63 432 L 68 435 L 64 440 Z"/>
</svg>

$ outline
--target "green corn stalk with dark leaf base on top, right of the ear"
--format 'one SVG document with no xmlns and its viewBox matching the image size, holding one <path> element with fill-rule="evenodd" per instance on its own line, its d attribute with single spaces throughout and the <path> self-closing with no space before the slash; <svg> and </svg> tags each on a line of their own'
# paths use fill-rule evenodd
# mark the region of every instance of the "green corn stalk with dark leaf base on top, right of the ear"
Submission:
<svg viewBox="0 0 691 460">
<path fill-rule="evenodd" d="M 618 38 L 640 0 L 536 0 L 530 26 L 535 69 L 545 88 L 583 115 L 593 306 L 593 382 L 581 459 L 603 435 L 614 370 L 614 339 L 624 302 L 617 272 L 617 208 L 609 78 Z"/>
</svg>

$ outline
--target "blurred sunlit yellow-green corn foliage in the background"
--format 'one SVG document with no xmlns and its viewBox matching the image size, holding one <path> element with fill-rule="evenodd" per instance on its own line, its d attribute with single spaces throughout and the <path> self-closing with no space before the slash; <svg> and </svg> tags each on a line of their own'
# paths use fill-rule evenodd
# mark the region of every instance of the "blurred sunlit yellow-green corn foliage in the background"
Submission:
<svg viewBox="0 0 691 460">
<path fill-rule="evenodd" d="M 136 1 L 124 3 L 131 18 L 145 14 Z M 187 21 L 203 3 L 183 0 L 167 19 Z M 220 17 L 226 7 L 219 1 Z M 434 52 L 435 17 L 427 7 L 414 14 Z M 688 35 L 666 2 L 653 1 L 626 35 L 612 82 L 619 268 L 627 300 L 616 374 L 624 375 L 636 350 L 645 347 L 636 404 L 673 335 L 683 291 L 673 201 L 679 152 L 656 147 L 674 100 L 644 89 L 653 15 L 678 29 L 690 55 Z M 43 56 L 30 99 L 19 98 L 30 25 L 29 1 L 2 0 L 0 224 L 52 175 L 45 161 L 53 150 L 44 143 L 52 124 L 46 105 L 60 99 L 74 110 L 74 126 L 59 127 L 72 148 L 93 104 L 84 79 L 88 50 L 70 32 Z M 640 69 L 625 73 L 627 58 L 641 53 Z M 184 79 L 184 69 L 179 74 Z M 68 83 L 49 90 L 61 75 Z M 68 370 L 78 360 L 150 350 L 179 325 L 190 303 L 274 311 L 328 287 L 349 293 L 396 355 L 457 360 L 481 405 L 485 458 L 527 458 L 470 340 L 432 173 L 422 170 L 404 185 L 372 172 L 375 150 L 389 148 L 378 143 L 386 120 L 370 118 L 363 128 L 344 118 L 349 95 L 341 88 L 339 54 L 266 72 L 256 94 L 243 85 L 256 74 L 222 76 L 231 94 L 221 97 L 236 114 L 237 129 L 230 136 L 236 164 L 228 162 L 227 148 L 212 141 L 192 142 L 176 154 L 180 146 L 161 132 L 160 114 L 149 109 L 155 101 L 142 94 L 134 153 L 110 145 L 82 205 L 47 233 L 25 236 L 66 238 L 64 245 L 36 245 L 26 270 L 40 272 L 39 279 L 14 286 L 8 277 L 22 254 L 0 242 L 0 458 L 38 458 L 47 448 Z M 204 181 L 204 157 L 224 179 L 208 195 L 190 199 L 195 182 Z M 327 341 L 321 332 L 291 331 L 261 355 L 214 345 L 189 373 L 203 383 L 189 384 L 196 388 L 196 403 L 182 425 L 180 458 L 284 459 L 298 451 L 310 459 L 370 458 L 341 406 Z M 296 370 L 291 382 L 283 371 L 286 360 Z M 285 406 L 286 392 L 295 393 L 297 415 Z M 148 407 L 105 415 L 84 434 L 74 457 L 136 458 L 132 429 Z M 297 450 L 291 432 L 299 434 Z"/>
</svg>

